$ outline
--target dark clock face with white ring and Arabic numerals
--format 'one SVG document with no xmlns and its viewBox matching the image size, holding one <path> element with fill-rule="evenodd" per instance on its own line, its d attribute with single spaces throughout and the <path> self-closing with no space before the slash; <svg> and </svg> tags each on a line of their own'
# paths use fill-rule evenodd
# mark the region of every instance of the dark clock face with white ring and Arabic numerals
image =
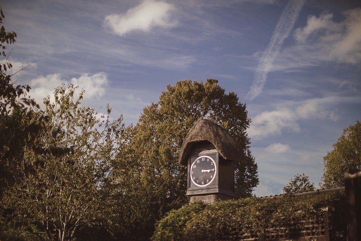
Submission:
<svg viewBox="0 0 361 241">
<path fill-rule="evenodd" d="M 213 157 L 213 158 L 212 158 Z M 199 156 L 191 163 L 191 187 L 205 187 L 210 185 L 216 177 L 216 155 Z M 215 185 L 212 183 L 212 185 Z"/>
</svg>

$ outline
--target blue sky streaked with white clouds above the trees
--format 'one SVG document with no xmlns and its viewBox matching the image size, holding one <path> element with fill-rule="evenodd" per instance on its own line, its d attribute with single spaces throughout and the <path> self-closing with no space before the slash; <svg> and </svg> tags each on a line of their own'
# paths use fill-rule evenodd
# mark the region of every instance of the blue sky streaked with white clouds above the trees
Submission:
<svg viewBox="0 0 361 241">
<path fill-rule="evenodd" d="M 296 173 L 319 183 L 323 156 L 361 114 L 359 1 L 7 1 L 9 56 L 41 102 L 61 82 L 84 105 L 136 123 L 167 84 L 216 78 L 247 103 L 257 196 Z"/>
</svg>

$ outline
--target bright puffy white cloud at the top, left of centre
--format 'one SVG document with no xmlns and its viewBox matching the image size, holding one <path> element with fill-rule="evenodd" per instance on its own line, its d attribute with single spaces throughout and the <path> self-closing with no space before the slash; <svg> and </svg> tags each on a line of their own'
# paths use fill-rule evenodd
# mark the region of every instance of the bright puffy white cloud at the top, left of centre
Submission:
<svg viewBox="0 0 361 241">
<path fill-rule="evenodd" d="M 129 9 L 125 14 L 110 14 L 105 17 L 106 27 L 119 35 L 134 30 L 149 32 L 154 27 L 174 27 L 177 22 L 171 20 L 175 7 L 169 3 L 145 0 L 140 5 Z"/>
</svg>

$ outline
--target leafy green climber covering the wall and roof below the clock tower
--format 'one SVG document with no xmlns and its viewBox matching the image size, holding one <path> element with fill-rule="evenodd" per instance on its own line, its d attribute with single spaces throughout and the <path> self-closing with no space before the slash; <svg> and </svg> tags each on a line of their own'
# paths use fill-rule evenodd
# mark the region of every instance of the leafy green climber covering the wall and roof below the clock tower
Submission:
<svg viewBox="0 0 361 241">
<path fill-rule="evenodd" d="M 220 201 L 198 208 L 187 205 L 169 212 L 157 223 L 153 241 L 166 240 L 239 240 L 255 237 L 266 240 L 267 228 L 300 225 L 296 220 L 323 221 L 323 208 L 329 207 L 334 240 L 345 240 L 344 192 L 313 195 L 284 195 L 277 199 L 245 198 Z M 184 208 L 184 209 L 183 209 Z M 177 221 L 178 220 L 178 221 Z M 302 229 L 302 226 L 298 228 Z M 174 237 L 181 237 L 175 238 Z"/>
</svg>

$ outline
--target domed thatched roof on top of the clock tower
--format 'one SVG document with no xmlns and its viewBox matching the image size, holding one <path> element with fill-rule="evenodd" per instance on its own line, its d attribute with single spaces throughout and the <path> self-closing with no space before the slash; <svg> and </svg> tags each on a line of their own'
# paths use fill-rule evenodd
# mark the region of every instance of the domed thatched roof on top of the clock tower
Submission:
<svg viewBox="0 0 361 241">
<path fill-rule="evenodd" d="M 204 116 L 195 122 L 183 140 L 179 152 L 179 162 L 181 164 L 187 165 L 188 155 L 192 150 L 193 144 L 201 141 L 212 143 L 224 159 L 247 164 L 244 152 L 237 141 L 226 129 L 218 125 L 217 121 Z"/>
</svg>

